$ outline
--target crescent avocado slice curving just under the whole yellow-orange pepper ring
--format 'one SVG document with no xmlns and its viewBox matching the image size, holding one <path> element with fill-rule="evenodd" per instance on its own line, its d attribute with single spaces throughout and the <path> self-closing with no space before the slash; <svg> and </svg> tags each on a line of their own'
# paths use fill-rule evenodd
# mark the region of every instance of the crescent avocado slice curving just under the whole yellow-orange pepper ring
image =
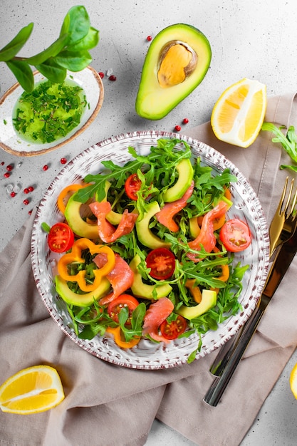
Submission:
<svg viewBox="0 0 297 446">
<path fill-rule="evenodd" d="M 56 291 L 59 296 L 66 301 L 68 305 L 75 306 L 90 306 L 95 301 L 98 301 L 101 297 L 105 296 L 105 294 L 110 289 L 110 282 L 106 277 L 100 281 L 100 285 L 94 291 L 90 291 L 85 294 L 77 294 L 71 291 L 69 288 L 67 281 L 62 279 L 61 276 L 56 276 Z"/>
</svg>

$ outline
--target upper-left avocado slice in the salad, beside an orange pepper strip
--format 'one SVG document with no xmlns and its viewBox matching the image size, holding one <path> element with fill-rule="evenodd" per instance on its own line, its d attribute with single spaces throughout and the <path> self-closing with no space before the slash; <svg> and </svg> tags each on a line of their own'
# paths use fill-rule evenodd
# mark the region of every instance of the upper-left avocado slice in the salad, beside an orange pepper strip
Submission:
<svg viewBox="0 0 297 446">
<path fill-rule="evenodd" d="M 80 207 L 83 203 L 75 201 L 75 195 L 73 194 L 69 199 L 65 209 L 65 218 L 68 225 L 73 230 L 74 234 L 80 237 L 86 237 L 87 239 L 98 239 L 98 227 L 97 224 L 91 224 L 85 222 L 80 215 Z"/>
</svg>

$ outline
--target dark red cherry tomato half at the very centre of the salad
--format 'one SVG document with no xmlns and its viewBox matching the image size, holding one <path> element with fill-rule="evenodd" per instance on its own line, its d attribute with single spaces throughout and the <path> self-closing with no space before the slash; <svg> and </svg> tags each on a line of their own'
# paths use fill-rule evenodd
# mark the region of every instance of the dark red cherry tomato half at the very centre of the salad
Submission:
<svg viewBox="0 0 297 446">
<path fill-rule="evenodd" d="M 167 248 L 157 248 L 150 251 L 145 259 L 150 276 L 154 279 L 169 279 L 175 269 L 175 257 Z"/>
</svg>

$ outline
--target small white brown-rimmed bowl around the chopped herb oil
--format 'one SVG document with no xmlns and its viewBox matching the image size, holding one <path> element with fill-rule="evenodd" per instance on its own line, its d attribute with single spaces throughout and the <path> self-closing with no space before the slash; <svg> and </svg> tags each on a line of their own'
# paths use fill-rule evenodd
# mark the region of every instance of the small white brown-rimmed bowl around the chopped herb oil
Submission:
<svg viewBox="0 0 297 446">
<path fill-rule="evenodd" d="M 34 81 L 38 83 L 46 80 L 38 71 L 34 74 Z M 22 140 L 20 135 L 16 133 L 12 122 L 12 115 L 16 101 L 24 92 L 19 83 L 14 84 L 0 99 L 0 147 L 12 155 L 33 156 L 41 155 L 58 147 L 65 145 L 67 142 L 76 138 L 85 128 L 93 122 L 103 104 L 104 89 L 103 83 L 97 71 L 88 66 L 78 73 L 68 71 L 66 80 L 71 79 L 81 88 L 83 88 L 88 102 L 87 107 L 80 120 L 80 124 L 74 128 L 65 138 L 60 138 L 49 144 L 34 144 Z"/>
</svg>

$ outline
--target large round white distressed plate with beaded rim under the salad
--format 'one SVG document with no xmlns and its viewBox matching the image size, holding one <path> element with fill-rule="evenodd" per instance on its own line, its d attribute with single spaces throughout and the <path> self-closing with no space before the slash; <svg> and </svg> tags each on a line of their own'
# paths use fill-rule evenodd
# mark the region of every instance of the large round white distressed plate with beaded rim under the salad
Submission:
<svg viewBox="0 0 297 446">
<path fill-rule="evenodd" d="M 202 336 L 203 345 L 197 358 L 202 358 L 222 346 L 246 322 L 259 300 L 268 271 L 269 234 L 261 204 L 249 182 L 229 160 L 203 142 L 179 137 L 174 133 L 152 131 L 119 135 L 93 145 L 69 162 L 53 180 L 38 207 L 31 242 L 36 286 L 48 311 L 64 333 L 78 346 L 98 358 L 125 367 L 148 370 L 170 368 L 186 363 L 189 354 L 197 348 L 198 336 L 192 335 L 189 338 L 177 339 L 168 345 L 152 343 L 143 339 L 137 346 L 127 350 L 119 348 L 113 339 L 108 337 L 96 336 L 92 341 L 79 339 L 71 328 L 71 318 L 68 316 L 66 304 L 57 296 L 54 289 L 55 255 L 48 249 L 46 234 L 41 230 L 41 223 L 46 222 L 51 226 L 62 220 L 63 216 L 58 211 L 56 200 L 63 187 L 80 182 L 88 173 L 95 174 L 103 170 L 103 166 L 100 165 L 102 160 L 111 159 L 117 164 L 125 164 L 131 160 L 127 152 L 129 145 L 135 147 L 137 152 L 142 155 L 147 155 L 151 145 L 155 145 L 159 138 L 184 139 L 192 147 L 194 157 L 201 157 L 203 165 L 213 167 L 215 172 L 222 172 L 225 168 L 229 168 L 238 179 L 238 182 L 231 186 L 234 205 L 229 211 L 229 217 L 237 217 L 246 221 L 252 235 L 250 247 L 235 254 L 234 260 L 236 263 L 241 261 L 242 265 L 250 265 L 249 271 L 246 271 L 244 276 L 244 288 L 240 296 L 243 310 L 224 321 L 217 331 L 209 331 Z"/>
</svg>

